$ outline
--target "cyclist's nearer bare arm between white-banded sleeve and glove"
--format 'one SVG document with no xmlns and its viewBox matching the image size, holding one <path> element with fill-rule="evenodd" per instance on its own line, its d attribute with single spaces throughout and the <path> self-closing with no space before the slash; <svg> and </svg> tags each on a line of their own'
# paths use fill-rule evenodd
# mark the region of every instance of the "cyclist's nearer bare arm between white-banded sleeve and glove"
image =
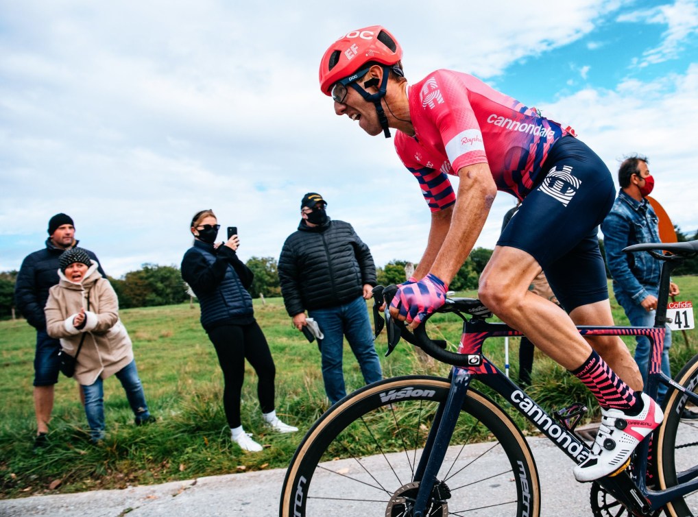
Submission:
<svg viewBox="0 0 698 517">
<path fill-rule="evenodd" d="M 430 270 L 446 284 L 451 283 L 466 262 L 497 194 L 487 163 L 461 167 L 458 177 L 458 195 L 451 225 Z"/>
</svg>

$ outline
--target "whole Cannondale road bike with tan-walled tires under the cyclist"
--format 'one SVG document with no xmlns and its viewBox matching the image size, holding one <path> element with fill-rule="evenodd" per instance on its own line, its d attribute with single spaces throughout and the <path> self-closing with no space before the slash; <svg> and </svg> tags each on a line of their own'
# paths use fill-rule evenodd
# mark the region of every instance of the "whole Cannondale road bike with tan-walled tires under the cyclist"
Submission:
<svg viewBox="0 0 698 517">
<path fill-rule="evenodd" d="M 637 447 L 628 468 L 593 481 L 597 517 L 698 516 L 698 425 L 683 419 L 698 405 L 698 355 L 671 380 L 660 370 L 671 271 L 698 255 L 698 241 L 626 248 L 662 260 L 654 327 L 578 327 L 582 336 L 648 336 L 652 342 L 645 391 L 662 403 L 664 421 Z M 660 253 L 665 252 L 665 253 Z M 376 291 L 392 298 L 395 286 Z M 383 299 L 380 299 L 383 294 Z M 501 396 L 565 455 L 581 463 L 591 454 L 575 426 L 586 410 L 574 404 L 547 413 L 482 354 L 490 337 L 521 336 L 477 299 L 447 299 L 437 312 L 463 320 L 457 352 L 426 333 L 385 321 L 374 308 L 376 334 L 385 324 L 388 354 L 404 338 L 446 364 L 448 378 L 408 375 L 355 391 L 322 414 L 299 445 L 283 481 L 281 517 L 540 515 L 540 480 L 526 438 L 502 405 L 471 384 Z M 533 317 L 533 315 L 532 315 Z M 380 438 L 379 438 L 380 437 Z M 467 446 L 467 447 L 466 447 Z M 570 472 L 571 475 L 571 472 Z"/>
</svg>

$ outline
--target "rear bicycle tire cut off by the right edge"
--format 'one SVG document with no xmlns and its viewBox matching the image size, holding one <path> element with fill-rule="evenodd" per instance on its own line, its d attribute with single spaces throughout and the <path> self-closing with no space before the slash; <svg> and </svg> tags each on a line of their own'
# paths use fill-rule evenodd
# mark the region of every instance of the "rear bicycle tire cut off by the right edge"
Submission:
<svg viewBox="0 0 698 517">
<path fill-rule="evenodd" d="M 693 392 L 698 389 L 698 355 L 681 369 L 675 378 L 678 384 Z M 664 422 L 657 436 L 658 477 L 660 488 L 678 484 L 678 473 L 698 465 L 698 421 L 683 420 L 681 415 L 688 407 L 684 396 L 669 388 L 664 405 Z M 665 511 L 671 517 L 698 516 L 698 490 L 667 504 Z"/>
</svg>

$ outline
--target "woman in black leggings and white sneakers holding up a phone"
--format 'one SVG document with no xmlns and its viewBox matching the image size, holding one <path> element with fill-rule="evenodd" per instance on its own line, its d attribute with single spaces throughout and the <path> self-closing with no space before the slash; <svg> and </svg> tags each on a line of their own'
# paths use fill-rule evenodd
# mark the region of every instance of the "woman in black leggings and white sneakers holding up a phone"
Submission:
<svg viewBox="0 0 698 517">
<path fill-rule="evenodd" d="M 279 433 L 298 429 L 284 424 L 274 411 L 276 368 L 262 329 L 255 321 L 252 297 L 247 287 L 253 273 L 237 257 L 239 239 L 233 235 L 216 243 L 218 220 L 211 210 L 195 214 L 191 220 L 194 246 L 181 261 L 181 276 L 192 288 L 201 307 L 201 324 L 216 348 L 223 370 L 223 407 L 232 440 L 245 451 L 257 452 L 262 446 L 245 433 L 240 420 L 240 396 L 245 359 L 259 377 L 257 395 L 267 426 Z"/>
</svg>

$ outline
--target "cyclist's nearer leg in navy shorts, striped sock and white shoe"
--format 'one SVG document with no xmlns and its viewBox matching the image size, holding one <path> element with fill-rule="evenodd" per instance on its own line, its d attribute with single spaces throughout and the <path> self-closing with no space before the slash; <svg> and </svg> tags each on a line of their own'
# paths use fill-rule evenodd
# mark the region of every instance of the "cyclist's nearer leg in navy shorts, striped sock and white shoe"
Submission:
<svg viewBox="0 0 698 517">
<path fill-rule="evenodd" d="M 530 280 L 530 274 L 540 264 L 560 304 L 570 313 L 608 298 L 605 276 L 599 274 L 602 262 L 595 235 L 614 201 L 611 175 L 591 149 L 573 139 L 565 140 L 561 146 L 558 142 L 549 162 L 553 167 L 542 185 L 523 200 L 500 237 L 485 270 L 485 281 L 481 281 L 480 296 L 502 320 L 527 334 L 543 352 L 572 370 L 599 401 L 604 419 L 594 454 L 574 469 L 577 479 L 589 481 L 623 467 L 641 438 L 659 425 L 661 412 L 651 398 L 636 394 L 596 352 L 591 352 L 563 311 L 560 313 L 564 316 L 550 318 L 550 307 L 517 292 L 521 280 Z M 574 259 L 576 268 L 568 264 Z M 517 279 L 521 271 L 523 275 Z M 512 280 L 514 290 L 507 292 L 506 283 Z M 483 284 L 487 297 L 482 296 Z M 594 306 L 593 312 L 609 316 L 609 309 L 599 308 Z M 577 315 L 586 316 L 587 312 L 592 311 L 580 309 Z M 537 317 L 531 318 L 531 313 Z M 584 357 L 585 354 L 588 355 Z M 634 361 L 630 366 L 634 366 Z M 639 380 L 637 366 L 634 372 Z M 628 419 L 632 425 L 627 431 L 616 428 L 618 419 Z M 618 447 L 611 447 L 611 442 Z M 604 449 L 604 443 L 609 447 Z"/>
</svg>

